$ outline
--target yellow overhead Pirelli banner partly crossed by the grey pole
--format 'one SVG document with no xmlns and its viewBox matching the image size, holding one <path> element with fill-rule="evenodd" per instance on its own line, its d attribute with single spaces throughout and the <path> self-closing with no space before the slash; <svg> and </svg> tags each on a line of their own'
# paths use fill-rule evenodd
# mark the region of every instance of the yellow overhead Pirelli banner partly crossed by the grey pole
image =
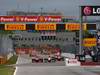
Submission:
<svg viewBox="0 0 100 75">
<path fill-rule="evenodd" d="M 66 24 L 66 30 L 80 30 L 80 24 L 79 23 L 67 23 Z M 86 23 L 83 24 L 83 30 L 86 30 Z"/>
</svg>

